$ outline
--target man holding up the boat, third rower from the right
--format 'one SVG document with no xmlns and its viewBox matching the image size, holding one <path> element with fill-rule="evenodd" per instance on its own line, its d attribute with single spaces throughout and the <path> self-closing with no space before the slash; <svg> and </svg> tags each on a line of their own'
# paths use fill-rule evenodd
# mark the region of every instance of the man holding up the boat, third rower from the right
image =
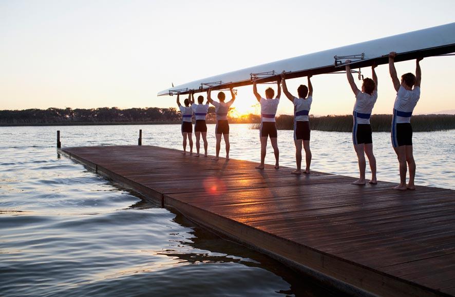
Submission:
<svg viewBox="0 0 455 297">
<path fill-rule="evenodd" d="M 281 82 L 283 85 L 283 93 L 286 97 L 294 103 L 294 144 L 295 144 L 295 162 L 297 169 L 293 174 L 301 174 L 301 163 L 302 163 L 302 144 L 305 150 L 305 160 L 307 166 L 305 173 L 310 173 L 311 164 L 311 150 L 310 150 L 310 122 L 309 112 L 311 103 L 313 102 L 313 85 L 311 84 L 311 75 L 308 76 L 308 87 L 304 84 L 300 84 L 297 88 L 298 98 L 294 97 L 288 91 L 286 86 L 285 74 L 281 74 Z M 308 95 L 308 97 L 307 97 Z"/>
</svg>

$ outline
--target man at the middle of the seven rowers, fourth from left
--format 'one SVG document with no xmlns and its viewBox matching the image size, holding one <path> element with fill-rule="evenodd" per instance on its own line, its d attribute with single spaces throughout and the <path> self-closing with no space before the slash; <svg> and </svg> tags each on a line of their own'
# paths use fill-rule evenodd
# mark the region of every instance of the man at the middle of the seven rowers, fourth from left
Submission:
<svg viewBox="0 0 455 297">
<path fill-rule="evenodd" d="M 267 88 L 266 98 L 262 98 L 261 95 L 257 92 L 256 80 L 253 82 L 253 94 L 256 96 L 256 99 L 261 104 L 261 126 L 259 130 L 259 138 L 261 141 L 261 163 L 256 166 L 257 169 L 264 168 L 264 161 L 266 159 L 266 148 L 267 148 L 267 139 L 270 136 L 270 142 L 272 143 L 273 152 L 275 154 L 275 168 L 279 168 L 279 150 L 277 143 L 277 131 L 275 123 L 275 114 L 278 108 L 278 103 L 280 102 L 281 96 L 281 87 L 280 87 L 281 78 L 277 80 L 278 92 L 275 95 L 275 91 L 272 88 Z"/>
</svg>

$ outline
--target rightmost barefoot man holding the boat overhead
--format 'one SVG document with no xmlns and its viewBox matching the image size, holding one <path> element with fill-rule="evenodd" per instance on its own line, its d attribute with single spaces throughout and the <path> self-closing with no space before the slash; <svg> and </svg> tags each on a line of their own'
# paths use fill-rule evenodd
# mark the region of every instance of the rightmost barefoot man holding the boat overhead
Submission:
<svg viewBox="0 0 455 297">
<path fill-rule="evenodd" d="M 389 72 L 392 78 L 393 87 L 396 90 L 395 103 L 393 105 L 392 116 L 392 146 L 395 150 L 400 164 L 400 184 L 394 187 L 397 190 L 415 189 L 415 161 L 412 154 L 412 126 L 411 116 L 415 105 L 420 98 L 420 83 L 422 80 L 422 70 L 420 61 L 415 60 L 415 75 L 405 73 L 401 76 L 401 82 L 396 75 L 395 52 L 389 53 Z M 414 87 L 414 88 L 412 88 Z M 407 163 L 407 166 L 406 166 Z M 406 185 L 406 171 L 409 167 L 409 182 Z"/>
</svg>

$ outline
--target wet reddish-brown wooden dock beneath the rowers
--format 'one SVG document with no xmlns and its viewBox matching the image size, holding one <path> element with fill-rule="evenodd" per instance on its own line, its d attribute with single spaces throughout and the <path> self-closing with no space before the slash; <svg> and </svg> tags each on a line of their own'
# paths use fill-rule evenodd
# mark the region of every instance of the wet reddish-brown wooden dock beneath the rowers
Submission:
<svg viewBox="0 0 455 297">
<path fill-rule="evenodd" d="M 352 177 L 156 146 L 59 149 L 208 228 L 352 293 L 455 295 L 455 191 L 355 186 Z M 356 291 L 360 289 L 360 291 Z"/>
</svg>

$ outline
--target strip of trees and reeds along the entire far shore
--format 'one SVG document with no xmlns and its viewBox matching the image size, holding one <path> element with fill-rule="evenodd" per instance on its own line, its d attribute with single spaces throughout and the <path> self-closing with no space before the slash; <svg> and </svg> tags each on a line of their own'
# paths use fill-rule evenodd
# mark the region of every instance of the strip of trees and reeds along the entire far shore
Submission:
<svg viewBox="0 0 455 297">
<path fill-rule="evenodd" d="M 234 110 L 234 109 L 233 109 Z M 249 123 L 252 129 L 259 129 L 260 116 L 249 114 L 230 117 L 230 123 Z M 207 123 L 216 122 L 215 108 L 210 107 Z M 391 114 L 371 116 L 374 132 L 390 132 Z M 56 109 L 47 110 L 2 110 L 0 126 L 57 126 L 57 125 L 139 125 L 139 124 L 179 124 L 180 112 L 175 108 L 98 108 L 98 109 Z M 415 115 L 411 118 L 414 132 L 443 131 L 455 129 L 455 115 Z M 278 130 L 293 130 L 294 116 L 276 117 Z M 330 132 L 351 132 L 352 115 L 310 116 L 310 129 Z"/>
</svg>

